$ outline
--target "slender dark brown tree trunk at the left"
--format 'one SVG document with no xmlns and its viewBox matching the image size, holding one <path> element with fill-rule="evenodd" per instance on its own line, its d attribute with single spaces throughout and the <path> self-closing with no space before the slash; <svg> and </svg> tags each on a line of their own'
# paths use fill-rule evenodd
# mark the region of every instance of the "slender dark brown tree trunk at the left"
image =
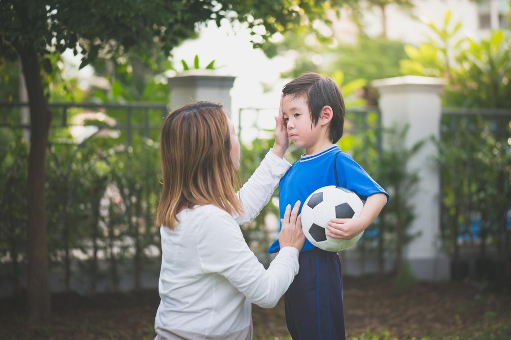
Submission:
<svg viewBox="0 0 511 340">
<path fill-rule="evenodd" d="M 43 325 L 51 318 L 50 273 L 44 197 L 45 159 L 51 112 L 44 98 L 39 58 L 20 51 L 30 106 L 30 153 L 28 162 L 28 322 Z"/>
</svg>

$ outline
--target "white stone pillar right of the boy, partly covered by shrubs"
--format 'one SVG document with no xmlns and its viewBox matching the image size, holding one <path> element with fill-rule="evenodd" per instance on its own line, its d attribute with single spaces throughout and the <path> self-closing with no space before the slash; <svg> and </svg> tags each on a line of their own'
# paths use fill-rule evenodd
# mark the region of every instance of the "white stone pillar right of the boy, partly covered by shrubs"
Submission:
<svg viewBox="0 0 511 340">
<path fill-rule="evenodd" d="M 439 92 L 444 85 L 444 79 L 419 76 L 375 80 L 373 86 L 380 93 L 383 127 L 408 124 L 406 147 L 430 137 L 438 139 L 442 114 Z M 449 260 L 442 254 L 439 241 L 440 178 L 434 161 L 436 154 L 435 145 L 428 141 L 408 164 L 409 169 L 419 170 L 419 183 L 415 195 L 410 198 L 415 220 L 409 231 L 421 234 L 407 246 L 404 257 L 410 262 L 415 275 L 423 280 L 449 278 Z"/>
</svg>

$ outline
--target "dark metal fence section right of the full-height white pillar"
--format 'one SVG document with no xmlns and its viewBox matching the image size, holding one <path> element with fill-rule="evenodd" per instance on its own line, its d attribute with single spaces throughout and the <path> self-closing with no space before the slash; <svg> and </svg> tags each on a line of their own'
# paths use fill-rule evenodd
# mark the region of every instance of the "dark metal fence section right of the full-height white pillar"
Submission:
<svg viewBox="0 0 511 340">
<path fill-rule="evenodd" d="M 453 277 L 499 277 L 511 255 L 511 110 L 445 108 L 440 135 L 440 218 Z"/>
</svg>

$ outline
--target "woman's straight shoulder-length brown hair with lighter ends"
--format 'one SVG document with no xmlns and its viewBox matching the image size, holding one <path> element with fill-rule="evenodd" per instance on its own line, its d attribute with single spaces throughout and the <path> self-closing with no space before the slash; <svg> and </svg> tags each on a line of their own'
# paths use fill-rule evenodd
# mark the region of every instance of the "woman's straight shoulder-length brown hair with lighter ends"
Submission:
<svg viewBox="0 0 511 340">
<path fill-rule="evenodd" d="M 179 210 L 194 205 L 213 204 L 229 214 L 243 211 L 235 188 L 240 179 L 230 150 L 222 105 L 199 101 L 167 116 L 160 136 L 163 188 L 158 226 L 175 229 Z"/>
</svg>

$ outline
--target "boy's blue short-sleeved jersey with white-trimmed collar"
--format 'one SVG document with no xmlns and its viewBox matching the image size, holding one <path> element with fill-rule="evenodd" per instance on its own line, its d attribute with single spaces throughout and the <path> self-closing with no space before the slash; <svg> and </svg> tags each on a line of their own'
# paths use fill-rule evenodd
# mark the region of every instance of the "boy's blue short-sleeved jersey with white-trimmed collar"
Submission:
<svg viewBox="0 0 511 340">
<path fill-rule="evenodd" d="M 281 178 L 278 185 L 278 206 L 281 218 L 284 218 L 288 204 L 294 206 L 296 201 L 299 200 L 303 205 L 312 192 L 323 186 L 336 185 L 334 157 L 339 151 L 337 145 L 332 145 L 331 148 L 317 154 L 303 155 L 293 164 Z M 336 159 L 336 166 L 340 186 L 352 190 L 363 201 L 374 193 L 384 193 L 387 196 L 388 203 L 388 193 L 350 155 L 340 152 Z M 301 212 L 301 205 L 299 212 Z M 279 230 L 280 228 L 282 228 L 282 225 Z M 314 248 L 311 242 L 306 240 L 301 251 L 304 252 Z M 279 250 L 280 246 L 277 239 L 268 248 L 268 252 L 276 253 Z"/>
</svg>

